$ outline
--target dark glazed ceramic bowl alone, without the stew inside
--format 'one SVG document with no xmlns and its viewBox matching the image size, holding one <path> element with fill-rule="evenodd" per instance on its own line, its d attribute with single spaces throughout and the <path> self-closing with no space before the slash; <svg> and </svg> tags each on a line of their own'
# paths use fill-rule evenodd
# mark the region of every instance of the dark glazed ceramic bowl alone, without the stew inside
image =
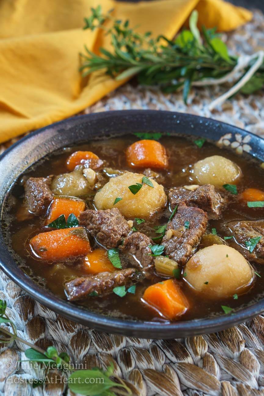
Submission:
<svg viewBox="0 0 264 396">
<path fill-rule="evenodd" d="M 113 111 L 67 119 L 39 129 L 19 140 L 0 156 L 0 206 L 13 183 L 29 166 L 46 154 L 68 145 L 111 134 L 132 132 L 170 132 L 202 136 L 230 145 L 264 161 L 264 140 L 242 129 L 207 118 L 165 111 Z M 237 145 L 237 143 L 236 143 Z M 0 224 L 1 225 L 1 224 Z M 0 229 L 0 268 L 33 299 L 46 307 L 97 330 L 141 338 L 179 338 L 210 333 L 245 322 L 264 311 L 264 299 L 231 315 L 171 324 L 121 320 L 90 312 L 64 301 L 35 284 L 15 263 Z"/>
</svg>

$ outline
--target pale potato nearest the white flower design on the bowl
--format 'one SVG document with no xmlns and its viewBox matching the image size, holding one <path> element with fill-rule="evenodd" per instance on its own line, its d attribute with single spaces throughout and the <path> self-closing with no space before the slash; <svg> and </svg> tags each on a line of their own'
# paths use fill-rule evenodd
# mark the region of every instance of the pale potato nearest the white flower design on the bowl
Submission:
<svg viewBox="0 0 264 396">
<path fill-rule="evenodd" d="M 212 184 L 222 186 L 223 184 L 235 183 L 241 176 L 241 170 L 234 162 L 220 155 L 206 157 L 194 164 L 194 181 L 200 185 Z"/>
</svg>

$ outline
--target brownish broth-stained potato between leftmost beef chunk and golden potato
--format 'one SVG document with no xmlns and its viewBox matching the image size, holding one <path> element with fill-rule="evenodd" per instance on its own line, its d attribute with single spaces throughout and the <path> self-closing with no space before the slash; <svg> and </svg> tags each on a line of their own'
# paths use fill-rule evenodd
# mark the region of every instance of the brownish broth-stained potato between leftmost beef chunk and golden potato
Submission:
<svg viewBox="0 0 264 396">
<path fill-rule="evenodd" d="M 54 194 L 74 197 L 85 196 L 91 192 L 90 185 L 81 169 L 55 176 L 51 183 L 51 189 Z"/>
</svg>

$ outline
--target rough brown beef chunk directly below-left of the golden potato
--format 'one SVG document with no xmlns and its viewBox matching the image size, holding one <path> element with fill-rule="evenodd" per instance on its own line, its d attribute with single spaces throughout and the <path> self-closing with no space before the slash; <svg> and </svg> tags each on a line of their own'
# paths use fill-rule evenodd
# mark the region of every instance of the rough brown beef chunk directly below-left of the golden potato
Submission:
<svg viewBox="0 0 264 396">
<path fill-rule="evenodd" d="M 130 231 L 125 217 L 117 208 L 106 210 L 88 209 L 79 216 L 79 225 L 90 231 L 96 240 L 107 249 L 117 247 Z"/>
</svg>

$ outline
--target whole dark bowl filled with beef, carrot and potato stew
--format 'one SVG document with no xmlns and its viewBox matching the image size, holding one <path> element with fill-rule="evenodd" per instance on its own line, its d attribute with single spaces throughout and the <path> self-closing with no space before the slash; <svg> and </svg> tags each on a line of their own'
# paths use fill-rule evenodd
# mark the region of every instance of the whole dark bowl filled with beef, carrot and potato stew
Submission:
<svg viewBox="0 0 264 396">
<path fill-rule="evenodd" d="M 215 120 L 78 116 L 0 157 L 0 267 L 81 324 L 175 338 L 264 310 L 264 141 Z"/>
</svg>

